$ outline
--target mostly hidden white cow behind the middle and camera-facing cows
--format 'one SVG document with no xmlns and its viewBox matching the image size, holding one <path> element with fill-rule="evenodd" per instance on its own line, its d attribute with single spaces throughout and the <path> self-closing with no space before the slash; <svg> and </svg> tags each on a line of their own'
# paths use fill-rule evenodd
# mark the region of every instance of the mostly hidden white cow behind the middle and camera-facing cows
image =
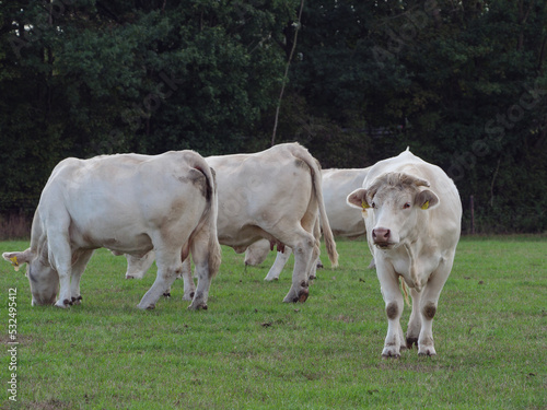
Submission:
<svg viewBox="0 0 547 410">
<path fill-rule="evenodd" d="M 351 191 L 362 186 L 369 169 L 370 167 L 349 169 L 333 168 L 322 172 L 325 210 L 327 212 L 328 223 L 335 236 L 354 239 L 365 234 L 361 211 L 349 208 L 346 204 L 346 198 Z M 261 263 L 269 251 L 270 246 L 267 241 L 259 241 L 251 245 L 245 251 L 245 265 L 255 266 Z M 278 280 L 290 256 L 290 248 L 286 248 L 284 253 L 278 253 L 274 266 L 264 280 Z"/>
</svg>

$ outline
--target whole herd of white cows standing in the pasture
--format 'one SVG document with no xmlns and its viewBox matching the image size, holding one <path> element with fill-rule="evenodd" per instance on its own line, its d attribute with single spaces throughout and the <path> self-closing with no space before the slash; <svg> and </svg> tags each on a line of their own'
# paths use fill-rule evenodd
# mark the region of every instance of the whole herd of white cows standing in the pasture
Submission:
<svg viewBox="0 0 547 410">
<path fill-rule="evenodd" d="M 34 214 L 31 247 L 2 256 L 27 263 L 33 305 L 81 303 L 80 278 L 94 249 L 125 255 L 126 278 L 158 274 L 138 307 L 153 308 L 177 277 L 190 309 L 207 309 L 220 244 L 256 265 L 277 247 L 265 280 L 294 254 L 283 302 L 305 302 L 323 235 L 330 265 L 334 237 L 366 235 L 388 320 L 382 355 L 417 344 L 437 354 L 432 320 L 459 238 L 457 189 L 438 166 L 408 149 L 362 169 L 323 169 L 298 143 L 254 154 L 202 157 L 194 151 L 66 159 L 51 172 Z M 190 271 L 195 266 L 197 286 Z M 406 337 L 400 326 L 410 289 Z"/>
</svg>

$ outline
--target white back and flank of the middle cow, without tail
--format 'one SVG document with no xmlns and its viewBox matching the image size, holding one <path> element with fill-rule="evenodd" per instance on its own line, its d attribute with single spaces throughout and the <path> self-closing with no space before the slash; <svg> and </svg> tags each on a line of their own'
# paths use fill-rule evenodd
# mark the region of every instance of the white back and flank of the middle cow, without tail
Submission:
<svg viewBox="0 0 547 410">
<path fill-rule="evenodd" d="M 310 167 L 294 156 L 292 147 L 280 144 L 255 154 L 206 161 L 217 172 L 221 243 L 237 242 L 235 237 L 247 225 L 274 226 L 288 213 L 306 212 L 312 195 Z"/>
</svg>

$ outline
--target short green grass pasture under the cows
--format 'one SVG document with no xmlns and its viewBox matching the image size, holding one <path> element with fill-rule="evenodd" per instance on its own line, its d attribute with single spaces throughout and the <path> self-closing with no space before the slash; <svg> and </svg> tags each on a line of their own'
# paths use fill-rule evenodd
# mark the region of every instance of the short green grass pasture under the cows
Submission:
<svg viewBox="0 0 547 410">
<path fill-rule="evenodd" d="M 26 246 L 3 242 L 0 251 Z M 434 358 L 415 349 L 381 359 L 387 323 L 365 244 L 338 242 L 338 250 L 340 267 L 318 271 L 305 304 L 283 304 L 292 259 L 266 283 L 274 255 L 245 269 L 243 256 L 223 248 L 206 312 L 186 311 L 182 281 L 155 311 L 138 311 L 155 268 L 125 280 L 125 258 L 104 249 L 82 278 L 81 306 L 31 307 L 27 279 L 1 261 L 0 407 L 547 408 L 547 237 L 462 238 L 434 321 Z M 5 388 L 10 288 L 15 403 Z"/>
</svg>

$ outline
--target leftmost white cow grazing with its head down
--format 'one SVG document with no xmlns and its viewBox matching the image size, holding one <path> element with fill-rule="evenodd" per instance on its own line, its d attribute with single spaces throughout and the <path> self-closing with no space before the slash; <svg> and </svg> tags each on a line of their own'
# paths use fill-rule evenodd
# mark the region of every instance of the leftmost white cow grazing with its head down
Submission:
<svg viewBox="0 0 547 410">
<path fill-rule="evenodd" d="M 191 253 L 199 282 L 189 308 L 207 308 L 221 257 L 217 213 L 214 175 L 193 151 L 67 159 L 42 192 L 31 247 L 2 256 L 15 268 L 28 263 L 33 305 L 66 307 L 82 298 L 80 278 L 94 249 L 135 257 L 154 249 L 158 277 L 138 305 L 144 309 Z"/>
</svg>

